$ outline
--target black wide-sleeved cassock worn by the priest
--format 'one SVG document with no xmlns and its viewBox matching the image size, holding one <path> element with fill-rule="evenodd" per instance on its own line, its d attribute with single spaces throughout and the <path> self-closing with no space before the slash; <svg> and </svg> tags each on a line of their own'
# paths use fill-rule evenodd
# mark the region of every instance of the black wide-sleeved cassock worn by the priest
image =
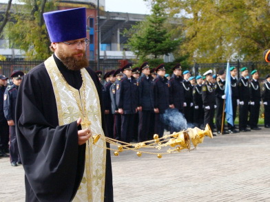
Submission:
<svg viewBox="0 0 270 202">
<path fill-rule="evenodd" d="M 80 89 L 81 72 L 68 70 L 55 56 L 54 60 L 67 83 Z M 90 68 L 86 69 L 101 98 L 98 77 Z M 101 101 L 102 127 L 107 133 L 103 112 Z M 85 144 L 78 145 L 81 126 L 76 122 L 59 126 L 52 82 L 44 63 L 24 76 L 17 97 L 15 120 L 25 170 L 25 201 L 72 201 L 83 177 Z M 113 201 L 110 150 L 106 155 L 104 201 Z"/>
</svg>

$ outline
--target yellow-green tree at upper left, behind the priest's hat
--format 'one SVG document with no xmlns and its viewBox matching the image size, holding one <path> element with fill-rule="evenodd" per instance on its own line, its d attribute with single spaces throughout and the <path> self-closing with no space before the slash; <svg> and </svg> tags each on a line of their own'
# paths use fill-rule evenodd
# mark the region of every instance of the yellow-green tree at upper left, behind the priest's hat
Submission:
<svg viewBox="0 0 270 202">
<path fill-rule="evenodd" d="M 20 10 L 13 14 L 14 22 L 6 25 L 4 36 L 10 47 L 25 51 L 29 59 L 43 60 L 50 56 L 50 41 L 43 20 L 43 12 L 54 9 L 53 1 L 21 0 Z"/>
</svg>

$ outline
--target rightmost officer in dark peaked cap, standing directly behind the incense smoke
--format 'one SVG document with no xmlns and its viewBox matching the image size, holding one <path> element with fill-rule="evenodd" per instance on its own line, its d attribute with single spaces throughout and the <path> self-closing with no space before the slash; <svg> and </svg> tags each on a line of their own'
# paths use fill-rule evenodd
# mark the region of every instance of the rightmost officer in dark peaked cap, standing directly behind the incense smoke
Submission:
<svg viewBox="0 0 270 202">
<path fill-rule="evenodd" d="M 174 73 L 169 79 L 169 107 L 171 109 L 177 109 L 180 113 L 184 113 L 184 87 L 183 87 L 183 78 L 182 78 L 182 67 L 180 64 L 176 64 L 172 70 Z M 171 133 L 174 131 L 180 131 L 183 128 L 174 128 L 171 126 Z"/>
</svg>

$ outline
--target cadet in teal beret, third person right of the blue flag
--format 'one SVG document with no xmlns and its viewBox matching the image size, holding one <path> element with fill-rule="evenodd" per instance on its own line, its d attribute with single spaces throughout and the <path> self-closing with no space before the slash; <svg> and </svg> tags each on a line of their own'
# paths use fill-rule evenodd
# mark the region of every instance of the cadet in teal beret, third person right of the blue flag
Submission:
<svg viewBox="0 0 270 202">
<path fill-rule="evenodd" d="M 252 80 L 249 83 L 249 95 L 250 95 L 250 115 L 249 125 L 251 130 L 258 131 L 261 128 L 258 127 L 258 120 L 260 115 L 260 83 L 258 82 L 259 74 L 257 70 L 251 71 Z"/>
</svg>

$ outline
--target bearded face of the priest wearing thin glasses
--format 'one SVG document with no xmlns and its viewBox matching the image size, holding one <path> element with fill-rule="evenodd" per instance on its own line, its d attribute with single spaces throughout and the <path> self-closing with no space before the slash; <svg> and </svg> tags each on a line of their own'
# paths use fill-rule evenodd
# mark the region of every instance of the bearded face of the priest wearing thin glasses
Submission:
<svg viewBox="0 0 270 202">
<path fill-rule="evenodd" d="M 79 70 L 88 66 L 88 60 L 85 57 L 85 38 L 66 41 L 66 43 L 52 43 L 54 54 L 70 70 Z M 70 44 L 67 44 L 70 43 Z"/>
</svg>

